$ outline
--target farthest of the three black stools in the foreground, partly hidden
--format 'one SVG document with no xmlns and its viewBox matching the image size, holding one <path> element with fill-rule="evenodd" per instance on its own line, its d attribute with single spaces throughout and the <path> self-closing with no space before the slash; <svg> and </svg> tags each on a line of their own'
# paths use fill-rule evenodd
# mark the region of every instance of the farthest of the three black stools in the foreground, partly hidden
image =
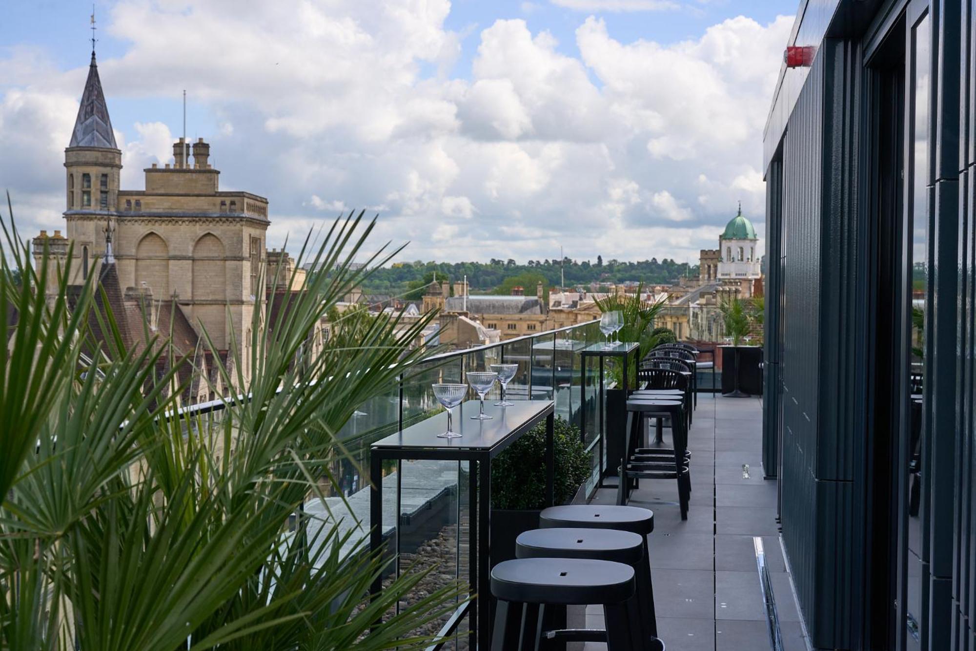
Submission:
<svg viewBox="0 0 976 651">
<path fill-rule="evenodd" d="M 624 477 L 621 476 L 621 481 Z M 644 541 L 644 558 L 641 567 L 635 568 L 639 575 L 647 577 L 637 582 L 641 591 L 640 602 L 654 605 L 654 582 L 651 579 L 651 556 L 647 537 L 654 531 L 654 511 L 640 506 L 617 506 L 614 504 L 566 504 L 549 506 L 539 514 L 539 526 L 543 529 L 616 529 L 637 534 Z M 651 611 L 651 634 L 657 636 L 658 623 Z"/>
</svg>

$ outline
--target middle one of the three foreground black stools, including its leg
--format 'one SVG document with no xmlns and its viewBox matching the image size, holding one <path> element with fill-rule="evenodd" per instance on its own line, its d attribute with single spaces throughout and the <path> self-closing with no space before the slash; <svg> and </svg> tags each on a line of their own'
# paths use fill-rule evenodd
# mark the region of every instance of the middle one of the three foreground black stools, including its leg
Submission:
<svg viewBox="0 0 976 651">
<path fill-rule="evenodd" d="M 515 541 L 517 558 L 590 558 L 630 565 L 637 583 L 636 599 L 640 617 L 633 631 L 641 651 L 661 651 L 664 643 L 658 639 L 657 618 L 654 613 L 654 590 L 650 572 L 644 571 L 644 537 L 630 531 L 616 529 L 555 528 L 535 529 L 519 535 Z M 641 584 L 647 584 L 642 586 Z M 644 600 L 650 595 L 650 603 Z M 564 612 L 564 611 L 563 611 Z M 565 622 L 562 612 L 557 622 Z M 561 626 L 565 626 L 562 624 Z"/>
</svg>

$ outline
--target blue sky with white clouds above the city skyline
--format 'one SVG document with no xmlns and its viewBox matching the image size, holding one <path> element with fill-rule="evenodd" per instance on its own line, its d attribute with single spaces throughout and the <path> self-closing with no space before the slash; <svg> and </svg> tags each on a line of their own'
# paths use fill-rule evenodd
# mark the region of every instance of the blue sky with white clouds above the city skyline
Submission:
<svg viewBox="0 0 976 651">
<path fill-rule="evenodd" d="M 0 189 L 63 226 L 91 5 L 8 0 Z M 398 260 L 697 262 L 764 233 L 762 129 L 797 0 L 99 0 L 122 187 L 211 144 L 269 200 L 267 245 L 379 214 Z M 760 242 L 761 245 L 761 242 Z M 296 243 L 289 248 L 297 248 Z"/>
</svg>

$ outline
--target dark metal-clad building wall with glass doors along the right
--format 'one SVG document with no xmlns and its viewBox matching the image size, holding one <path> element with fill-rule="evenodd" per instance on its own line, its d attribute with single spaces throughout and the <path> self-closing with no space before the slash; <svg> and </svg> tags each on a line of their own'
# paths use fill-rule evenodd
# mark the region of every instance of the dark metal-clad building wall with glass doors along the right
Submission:
<svg viewBox="0 0 976 651">
<path fill-rule="evenodd" d="M 976 648 L 976 13 L 800 3 L 764 138 L 763 467 L 817 649 Z"/>
</svg>

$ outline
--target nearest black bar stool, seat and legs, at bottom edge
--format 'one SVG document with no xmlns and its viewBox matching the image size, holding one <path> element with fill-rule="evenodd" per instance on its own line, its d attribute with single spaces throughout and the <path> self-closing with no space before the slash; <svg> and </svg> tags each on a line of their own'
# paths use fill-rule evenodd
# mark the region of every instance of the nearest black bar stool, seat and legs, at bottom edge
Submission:
<svg viewBox="0 0 976 651">
<path fill-rule="evenodd" d="M 632 638 L 640 617 L 633 568 L 580 558 L 518 558 L 491 571 L 498 599 L 492 651 L 536 651 L 542 640 L 606 642 L 608 651 L 639 651 Z M 548 630 L 547 606 L 599 604 L 606 630 Z M 538 606 L 538 608 L 536 607 Z"/>
</svg>

